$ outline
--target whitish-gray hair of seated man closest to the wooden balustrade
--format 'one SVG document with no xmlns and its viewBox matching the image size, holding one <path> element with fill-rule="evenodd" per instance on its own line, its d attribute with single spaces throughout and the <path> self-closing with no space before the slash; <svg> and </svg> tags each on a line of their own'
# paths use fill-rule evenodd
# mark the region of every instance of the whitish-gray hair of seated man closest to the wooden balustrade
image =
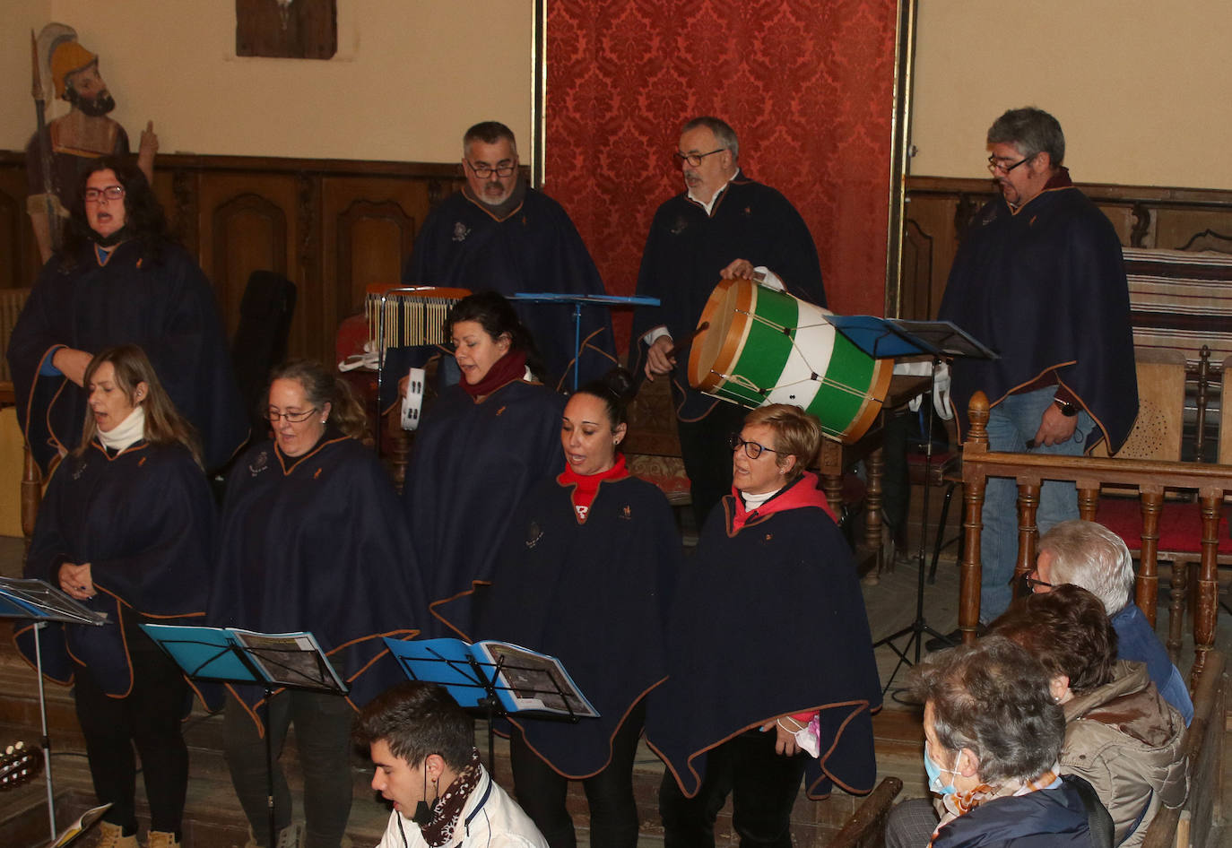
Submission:
<svg viewBox="0 0 1232 848">
<path fill-rule="evenodd" d="M 1093 521 L 1063 521 L 1044 534 L 1040 553 L 1052 556 L 1052 582 L 1073 583 L 1099 598 L 1109 615 L 1130 602 L 1133 559 L 1121 537 Z"/>
</svg>

